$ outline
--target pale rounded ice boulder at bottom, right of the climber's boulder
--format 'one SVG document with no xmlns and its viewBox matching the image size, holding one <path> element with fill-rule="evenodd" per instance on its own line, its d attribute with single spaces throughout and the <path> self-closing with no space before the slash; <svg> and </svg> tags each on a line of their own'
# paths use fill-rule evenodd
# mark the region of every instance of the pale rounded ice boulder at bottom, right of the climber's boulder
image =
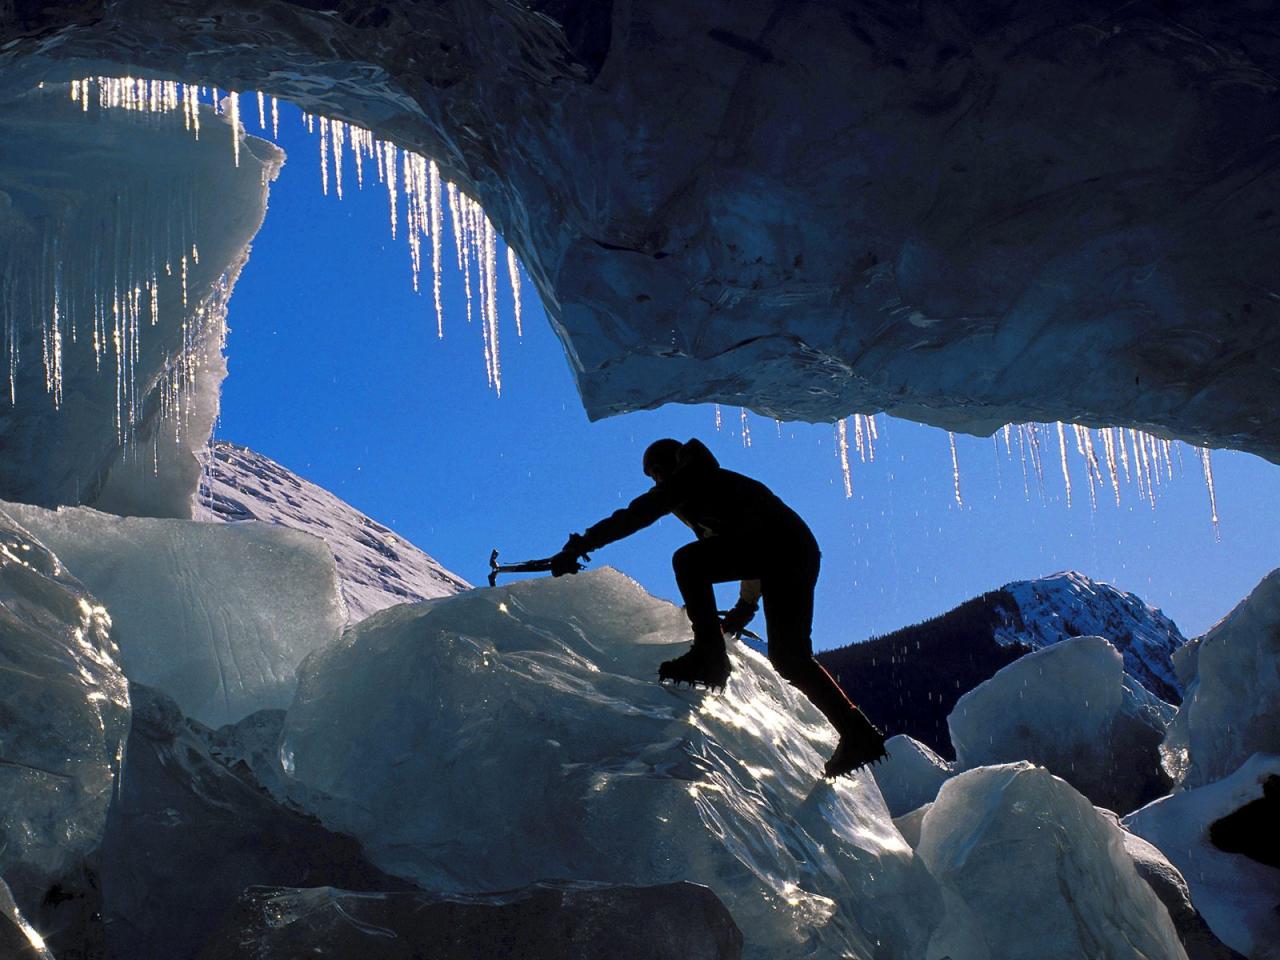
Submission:
<svg viewBox="0 0 1280 960">
<path fill-rule="evenodd" d="M 1123 833 L 1066 781 L 1030 763 L 947 781 L 915 847 L 947 904 L 928 956 L 1185 960 Z"/>
</svg>

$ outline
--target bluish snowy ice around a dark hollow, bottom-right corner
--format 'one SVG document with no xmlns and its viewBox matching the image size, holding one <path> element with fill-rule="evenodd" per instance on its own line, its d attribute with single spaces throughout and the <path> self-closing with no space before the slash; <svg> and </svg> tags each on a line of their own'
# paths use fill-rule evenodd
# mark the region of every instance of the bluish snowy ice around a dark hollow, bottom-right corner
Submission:
<svg viewBox="0 0 1280 960">
<path fill-rule="evenodd" d="M 1280 956 L 1280 870 L 1213 846 L 1210 827 L 1262 796 L 1280 756 L 1257 754 L 1222 780 L 1178 790 L 1124 818 L 1181 872 L 1192 902 L 1226 946 L 1248 957 Z"/>
</svg>

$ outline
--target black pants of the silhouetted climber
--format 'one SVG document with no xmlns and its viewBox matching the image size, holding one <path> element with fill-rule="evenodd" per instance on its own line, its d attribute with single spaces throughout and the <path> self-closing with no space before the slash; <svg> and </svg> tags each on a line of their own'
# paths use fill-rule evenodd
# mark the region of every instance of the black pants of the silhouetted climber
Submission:
<svg viewBox="0 0 1280 960">
<path fill-rule="evenodd" d="M 820 559 L 818 543 L 805 530 L 762 541 L 708 536 L 676 550 L 671 566 L 699 644 L 724 643 L 713 585 L 759 580 L 769 663 L 845 733 L 858 728 L 861 714 L 813 658 L 813 591 Z"/>
</svg>

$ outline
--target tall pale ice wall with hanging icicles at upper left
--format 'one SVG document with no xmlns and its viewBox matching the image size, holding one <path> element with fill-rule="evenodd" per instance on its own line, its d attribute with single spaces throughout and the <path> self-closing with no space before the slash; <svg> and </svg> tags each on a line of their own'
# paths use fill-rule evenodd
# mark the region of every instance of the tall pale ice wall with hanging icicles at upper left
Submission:
<svg viewBox="0 0 1280 960">
<path fill-rule="evenodd" d="M 283 160 L 207 109 L 200 129 L 0 82 L 0 499 L 191 516 Z"/>
</svg>

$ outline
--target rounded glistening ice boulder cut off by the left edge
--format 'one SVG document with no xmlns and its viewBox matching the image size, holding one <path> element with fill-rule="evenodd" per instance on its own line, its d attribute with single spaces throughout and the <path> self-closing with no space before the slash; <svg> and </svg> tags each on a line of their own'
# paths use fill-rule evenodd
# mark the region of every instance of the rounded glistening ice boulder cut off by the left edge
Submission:
<svg viewBox="0 0 1280 960">
<path fill-rule="evenodd" d="M 99 844 L 129 695 L 97 598 L 0 507 L 0 877 L 28 913 Z"/>
</svg>

